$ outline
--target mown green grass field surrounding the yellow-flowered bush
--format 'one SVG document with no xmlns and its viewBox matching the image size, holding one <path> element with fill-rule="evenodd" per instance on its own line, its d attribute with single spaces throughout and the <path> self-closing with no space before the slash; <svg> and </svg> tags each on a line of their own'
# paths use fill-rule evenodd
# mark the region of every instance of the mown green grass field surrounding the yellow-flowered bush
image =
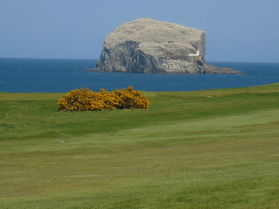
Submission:
<svg viewBox="0 0 279 209">
<path fill-rule="evenodd" d="M 279 84 L 59 112 L 0 93 L 0 208 L 279 208 Z"/>
</svg>

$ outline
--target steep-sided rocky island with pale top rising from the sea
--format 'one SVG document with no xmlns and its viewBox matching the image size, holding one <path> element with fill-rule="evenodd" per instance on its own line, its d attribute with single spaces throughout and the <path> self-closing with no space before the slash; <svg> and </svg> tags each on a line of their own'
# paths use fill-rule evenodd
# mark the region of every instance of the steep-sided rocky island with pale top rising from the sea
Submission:
<svg viewBox="0 0 279 209">
<path fill-rule="evenodd" d="M 88 71 L 241 74 L 206 64 L 205 33 L 179 24 L 142 18 L 122 24 L 105 38 L 95 68 Z"/>
</svg>

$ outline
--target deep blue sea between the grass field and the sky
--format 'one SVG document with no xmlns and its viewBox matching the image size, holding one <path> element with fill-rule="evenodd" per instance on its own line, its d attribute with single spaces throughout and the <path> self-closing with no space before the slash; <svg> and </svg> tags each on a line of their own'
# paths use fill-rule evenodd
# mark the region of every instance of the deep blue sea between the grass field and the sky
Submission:
<svg viewBox="0 0 279 209">
<path fill-rule="evenodd" d="M 169 75 L 86 72 L 97 60 L 0 59 L 0 92 L 93 91 L 133 86 L 141 91 L 196 91 L 259 86 L 279 82 L 279 63 L 208 62 L 240 70 L 243 75 Z"/>
</svg>

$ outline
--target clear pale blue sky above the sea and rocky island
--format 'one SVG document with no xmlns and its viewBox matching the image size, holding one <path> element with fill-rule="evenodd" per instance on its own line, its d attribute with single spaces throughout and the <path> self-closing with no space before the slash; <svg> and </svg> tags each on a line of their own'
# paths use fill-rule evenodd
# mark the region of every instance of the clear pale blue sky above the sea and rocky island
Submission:
<svg viewBox="0 0 279 209">
<path fill-rule="evenodd" d="M 141 17 L 206 32 L 206 61 L 279 63 L 278 0 L 0 0 L 0 57 L 99 59 Z"/>
</svg>

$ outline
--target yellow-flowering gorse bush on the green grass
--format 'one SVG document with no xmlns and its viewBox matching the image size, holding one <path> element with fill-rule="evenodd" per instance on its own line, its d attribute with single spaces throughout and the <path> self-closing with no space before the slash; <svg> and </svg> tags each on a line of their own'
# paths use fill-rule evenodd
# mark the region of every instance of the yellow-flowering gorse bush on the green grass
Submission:
<svg viewBox="0 0 279 209">
<path fill-rule="evenodd" d="M 103 88 L 100 92 L 93 92 L 89 88 L 80 88 L 69 91 L 59 99 L 57 107 L 59 111 L 87 111 L 104 109 L 147 109 L 149 99 L 132 86 L 121 90 L 115 89 L 109 92 Z"/>
</svg>

